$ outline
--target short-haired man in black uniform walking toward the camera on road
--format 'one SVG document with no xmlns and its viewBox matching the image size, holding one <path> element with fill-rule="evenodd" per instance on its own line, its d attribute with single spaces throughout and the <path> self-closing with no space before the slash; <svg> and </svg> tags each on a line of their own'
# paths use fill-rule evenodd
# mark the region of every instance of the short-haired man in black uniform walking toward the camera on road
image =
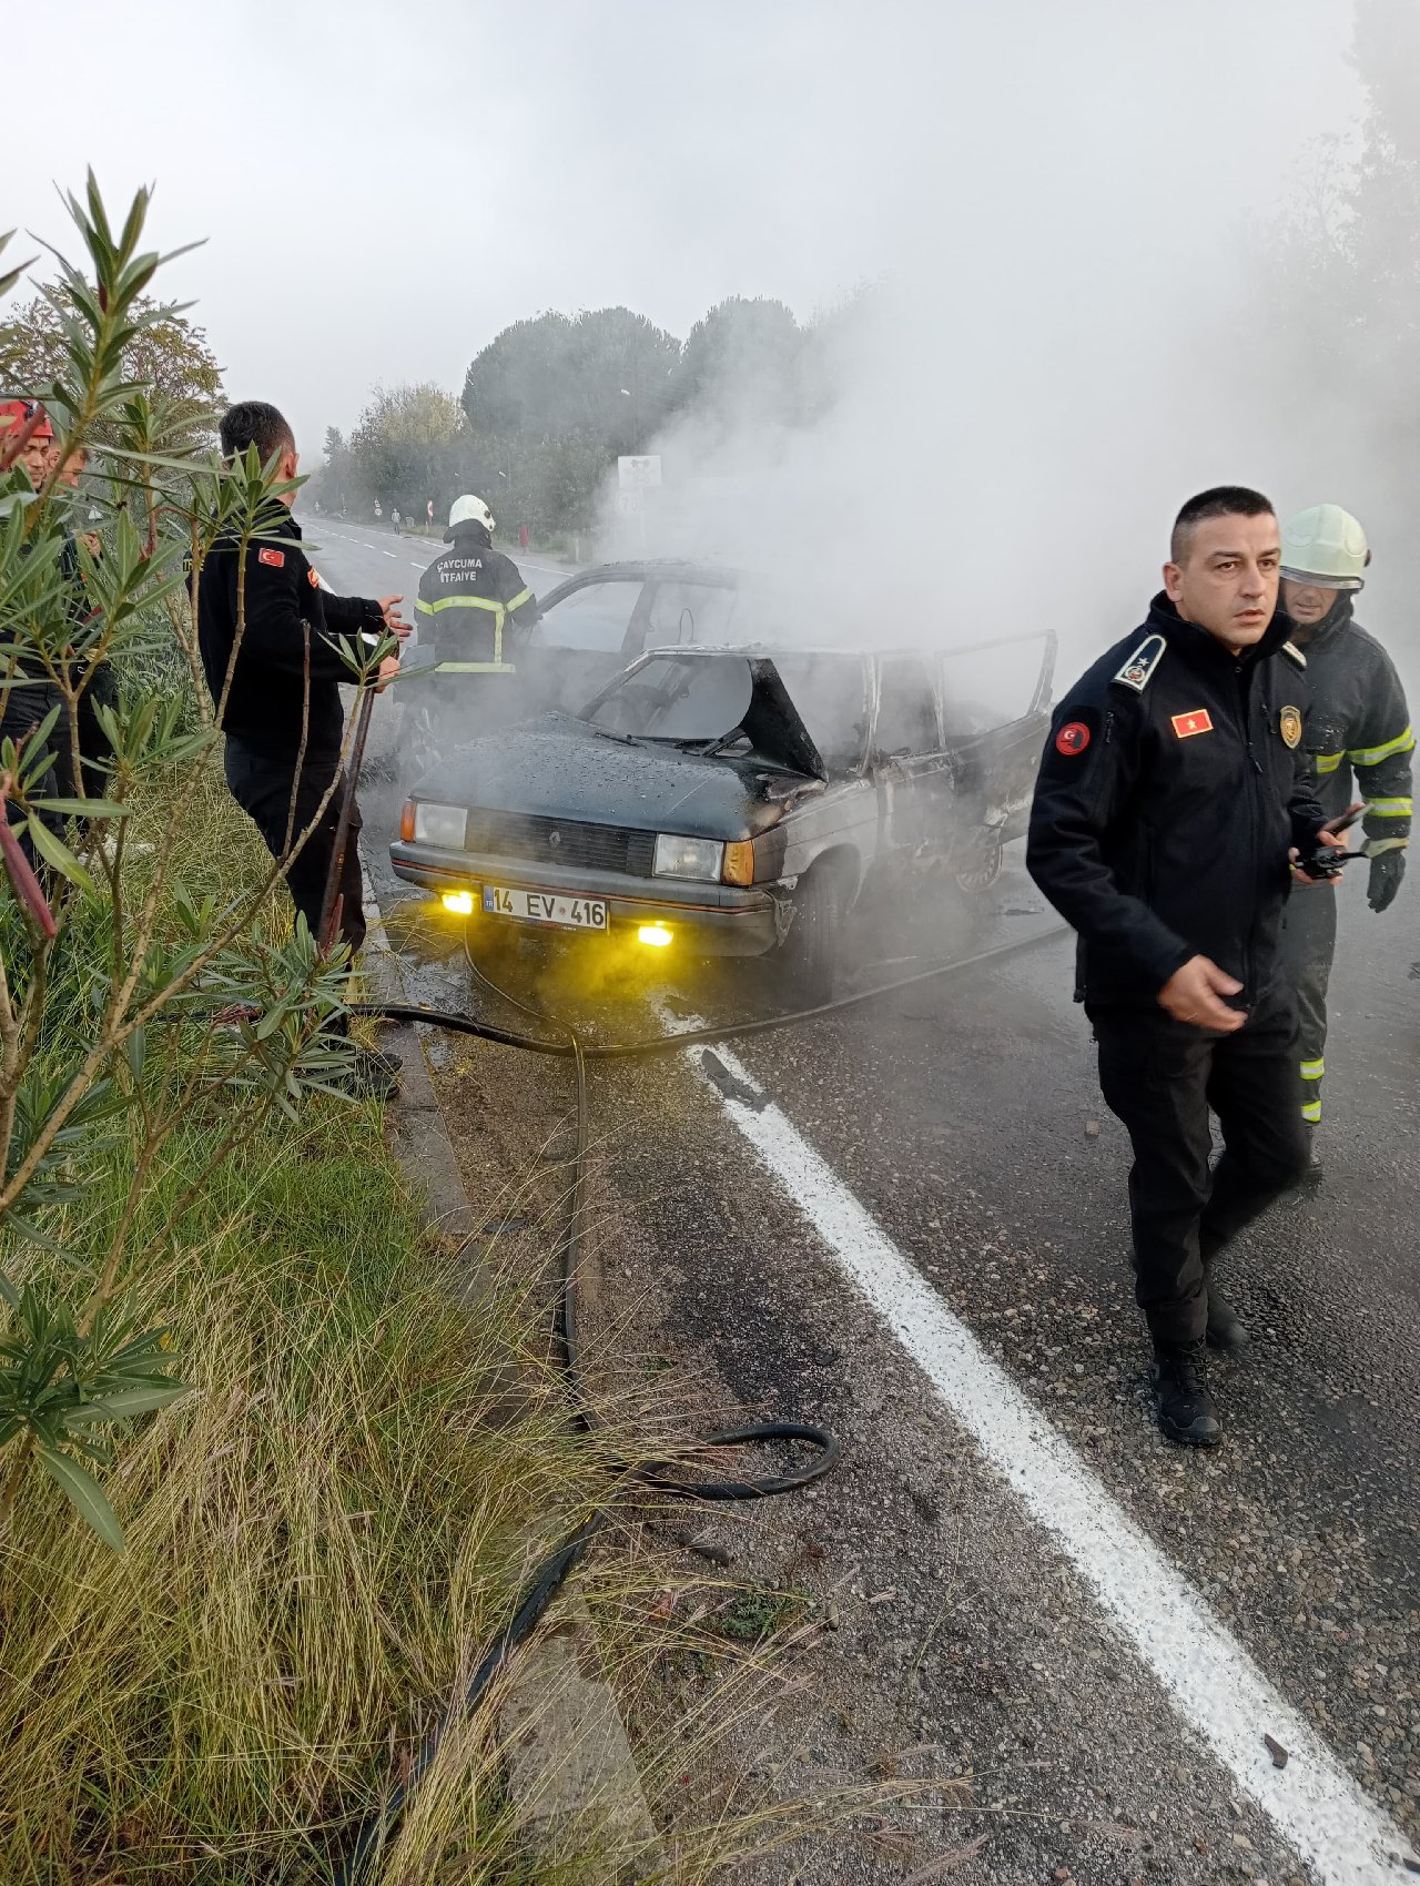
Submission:
<svg viewBox="0 0 1420 1886">
<path fill-rule="evenodd" d="M 1247 1341 L 1213 1264 L 1307 1164 L 1279 958 L 1288 871 L 1311 883 L 1316 847 L 1345 847 L 1299 753 L 1303 662 L 1275 615 L 1279 573 L 1258 492 L 1220 487 L 1182 507 L 1148 620 L 1054 715 L 1026 852 L 1079 932 L 1099 1086 L 1133 1143 L 1158 1422 L 1196 1447 L 1220 1437 L 1205 1339 Z"/>
</svg>

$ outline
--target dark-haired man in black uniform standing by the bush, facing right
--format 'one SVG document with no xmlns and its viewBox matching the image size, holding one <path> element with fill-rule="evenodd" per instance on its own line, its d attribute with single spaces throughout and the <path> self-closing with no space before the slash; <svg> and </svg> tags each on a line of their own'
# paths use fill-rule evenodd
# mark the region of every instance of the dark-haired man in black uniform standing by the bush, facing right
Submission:
<svg viewBox="0 0 1420 1886">
<path fill-rule="evenodd" d="M 228 462 L 255 445 L 264 466 L 275 462 L 279 479 L 296 477 L 296 438 L 277 407 L 264 400 L 243 400 L 224 415 L 221 445 Z M 226 734 L 224 768 L 232 798 L 251 815 L 272 856 L 289 860 L 285 877 L 296 913 L 317 935 L 345 785 L 339 687 L 351 681 L 351 670 L 336 641 L 368 656 L 387 634 L 404 637 L 409 626 L 398 613 L 402 596 L 375 602 L 332 596 L 321 587 L 302 551 L 302 530 L 290 515 L 292 498 L 294 488 L 273 504 L 260 539 L 245 549 L 241 626 L 239 545 L 219 539 L 207 553 L 198 585 L 198 647 Z M 385 656 L 381 681 L 396 673 L 398 660 Z M 355 807 L 336 886 L 339 934 L 351 956 L 366 935 L 358 830 L 360 811 Z M 294 851 L 304 834 L 300 851 Z M 341 1024 L 332 1032 L 343 1032 Z M 351 1062 L 351 1084 L 362 1094 L 388 1098 L 398 1071 L 396 1056 L 358 1051 Z"/>
</svg>

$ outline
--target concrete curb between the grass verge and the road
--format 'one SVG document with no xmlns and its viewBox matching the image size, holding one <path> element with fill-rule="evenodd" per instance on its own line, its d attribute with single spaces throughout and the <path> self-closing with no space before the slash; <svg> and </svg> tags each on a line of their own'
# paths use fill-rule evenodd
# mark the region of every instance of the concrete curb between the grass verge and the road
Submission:
<svg viewBox="0 0 1420 1886">
<path fill-rule="evenodd" d="M 407 1001 L 368 871 L 364 911 L 364 977 L 375 1000 Z M 422 1201 L 424 1226 L 477 1266 L 481 1220 L 458 1175 L 422 1035 L 411 1022 L 400 1022 L 388 1024 L 381 1039 L 404 1056 L 402 1092 L 385 1113 L 394 1156 Z M 477 1277 L 470 1286 L 475 1296 Z M 573 1843 L 605 1841 L 613 1852 L 636 1854 L 615 1873 L 617 1880 L 632 1882 L 664 1871 L 668 1861 L 615 1692 L 594 1675 L 596 1669 L 592 1616 L 581 1597 L 564 1597 L 553 1626 L 545 1626 L 509 1665 L 507 1701 L 498 1718 L 507 1786 L 526 1843 L 539 1860 L 564 1861 Z"/>
</svg>

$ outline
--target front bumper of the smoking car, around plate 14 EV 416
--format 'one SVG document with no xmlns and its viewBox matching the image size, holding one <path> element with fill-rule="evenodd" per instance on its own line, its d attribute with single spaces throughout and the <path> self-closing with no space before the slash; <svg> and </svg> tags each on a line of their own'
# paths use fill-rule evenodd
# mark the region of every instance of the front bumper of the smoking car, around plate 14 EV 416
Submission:
<svg viewBox="0 0 1420 1886">
<path fill-rule="evenodd" d="M 438 845 L 415 845 L 396 839 L 390 845 L 394 875 L 424 890 L 468 890 L 473 911 L 481 915 L 483 886 L 505 885 L 511 890 L 545 890 L 571 898 L 598 898 L 607 905 L 609 930 L 571 932 L 562 935 L 609 937 L 617 932 L 664 924 L 694 956 L 762 956 L 779 939 L 775 898 L 758 886 L 696 885 L 673 877 L 628 877 L 622 871 L 594 871 L 585 866 L 530 864 L 526 858 L 481 856 L 466 851 L 445 851 Z M 488 917 L 507 930 L 543 928 L 522 924 L 513 917 Z"/>
</svg>

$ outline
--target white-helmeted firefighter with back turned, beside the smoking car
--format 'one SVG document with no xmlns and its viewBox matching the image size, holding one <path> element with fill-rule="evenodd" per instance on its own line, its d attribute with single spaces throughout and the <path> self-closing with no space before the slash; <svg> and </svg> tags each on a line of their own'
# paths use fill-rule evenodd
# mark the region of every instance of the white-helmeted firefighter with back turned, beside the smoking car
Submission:
<svg viewBox="0 0 1420 1886">
<path fill-rule="evenodd" d="M 492 547 L 494 517 L 483 498 L 464 494 L 449 507 L 439 551 L 419 579 L 421 647 L 432 645 L 436 666 L 432 720 L 438 732 L 468 737 L 505 722 L 515 707 L 511 685 L 473 694 L 462 677 L 517 673 L 511 658 L 539 622 L 537 598 L 511 556 Z"/>
</svg>

